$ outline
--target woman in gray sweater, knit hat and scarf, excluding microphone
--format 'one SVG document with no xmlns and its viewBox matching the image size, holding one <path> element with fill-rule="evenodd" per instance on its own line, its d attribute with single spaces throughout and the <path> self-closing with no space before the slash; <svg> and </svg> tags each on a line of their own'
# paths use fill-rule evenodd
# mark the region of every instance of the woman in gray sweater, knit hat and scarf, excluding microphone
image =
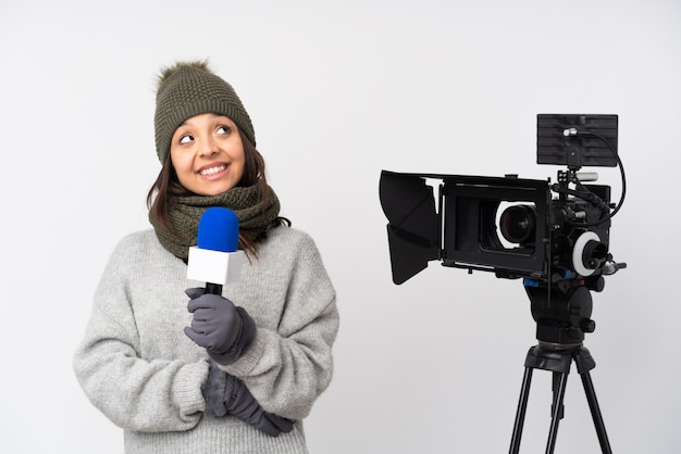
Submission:
<svg viewBox="0 0 681 454">
<path fill-rule="evenodd" d="M 154 126 L 153 229 L 124 238 L 107 265 L 78 381 L 128 453 L 306 453 L 302 419 L 331 381 L 338 329 L 320 254 L 278 216 L 250 117 L 206 63 L 162 72 Z M 222 295 L 186 279 L 210 206 L 236 213 L 248 257 Z"/>
</svg>

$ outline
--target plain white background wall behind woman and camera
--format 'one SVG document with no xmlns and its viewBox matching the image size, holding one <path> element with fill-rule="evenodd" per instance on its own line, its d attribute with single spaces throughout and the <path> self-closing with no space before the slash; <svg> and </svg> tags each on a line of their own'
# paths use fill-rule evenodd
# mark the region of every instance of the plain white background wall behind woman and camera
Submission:
<svg viewBox="0 0 681 454">
<path fill-rule="evenodd" d="M 628 197 L 585 345 L 615 452 L 681 452 L 681 5 L 647 1 L 0 3 L 0 451 L 121 453 L 72 355 L 114 244 L 148 228 L 156 74 L 209 58 L 256 127 L 282 214 L 338 292 L 313 453 L 507 452 L 534 323 L 519 281 L 391 279 L 381 169 L 555 179 L 537 113 L 619 115 Z M 596 169 L 619 197 L 619 173 Z M 543 452 L 538 370 L 521 452 Z M 556 453 L 597 453 L 577 371 Z"/>
</svg>

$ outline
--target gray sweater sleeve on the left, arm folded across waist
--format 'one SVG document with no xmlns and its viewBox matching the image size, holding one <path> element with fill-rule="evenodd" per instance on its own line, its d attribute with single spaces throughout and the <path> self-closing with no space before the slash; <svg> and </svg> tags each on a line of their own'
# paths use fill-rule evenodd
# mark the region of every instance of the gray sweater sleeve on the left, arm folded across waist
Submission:
<svg viewBox="0 0 681 454">
<path fill-rule="evenodd" d="M 136 431 L 194 428 L 205 409 L 200 387 L 206 360 L 146 360 L 122 274 L 125 260 L 112 255 L 95 295 L 86 335 L 74 355 L 78 382 L 117 426 Z"/>
</svg>

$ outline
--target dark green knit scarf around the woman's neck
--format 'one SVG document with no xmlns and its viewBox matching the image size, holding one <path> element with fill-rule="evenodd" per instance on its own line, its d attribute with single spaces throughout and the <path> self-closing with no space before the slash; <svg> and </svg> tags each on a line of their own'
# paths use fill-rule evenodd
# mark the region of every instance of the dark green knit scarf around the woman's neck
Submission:
<svg viewBox="0 0 681 454">
<path fill-rule="evenodd" d="M 262 190 L 258 184 L 249 187 L 235 187 L 218 196 L 169 196 L 168 217 L 177 235 L 169 231 L 151 211 L 149 222 L 163 248 L 183 260 L 189 255 L 189 247 L 196 245 L 199 219 L 211 206 L 224 206 L 236 213 L 240 236 L 255 241 L 278 216 L 278 198 L 272 188 L 268 187 L 268 189 L 267 206 L 262 204 Z M 242 248 L 240 239 L 239 248 Z"/>
</svg>

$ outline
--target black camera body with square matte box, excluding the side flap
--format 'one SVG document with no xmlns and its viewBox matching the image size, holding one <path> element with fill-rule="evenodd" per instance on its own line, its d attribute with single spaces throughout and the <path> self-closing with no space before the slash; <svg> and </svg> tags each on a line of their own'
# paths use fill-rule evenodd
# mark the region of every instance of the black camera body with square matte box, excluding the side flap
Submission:
<svg viewBox="0 0 681 454">
<path fill-rule="evenodd" d="M 550 188 L 515 176 L 445 176 L 443 265 L 536 281 L 595 274 L 607 258 L 610 222 L 598 223 L 602 210 L 584 200 L 553 198 Z M 609 203 L 608 186 L 587 188 Z"/>
</svg>

